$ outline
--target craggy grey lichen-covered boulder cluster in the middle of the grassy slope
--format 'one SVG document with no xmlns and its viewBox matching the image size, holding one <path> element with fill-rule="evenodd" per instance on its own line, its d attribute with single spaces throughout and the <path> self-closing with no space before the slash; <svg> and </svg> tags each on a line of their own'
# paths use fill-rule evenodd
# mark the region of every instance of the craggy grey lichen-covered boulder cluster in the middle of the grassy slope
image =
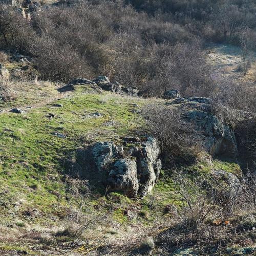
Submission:
<svg viewBox="0 0 256 256">
<path fill-rule="evenodd" d="M 155 138 L 136 138 L 127 146 L 114 142 L 97 142 L 78 152 L 81 173 L 94 173 L 111 191 L 122 191 L 128 197 L 151 192 L 161 170 L 160 147 Z M 80 161 L 79 161 L 80 159 Z M 83 176 L 83 175 L 81 175 Z"/>
</svg>

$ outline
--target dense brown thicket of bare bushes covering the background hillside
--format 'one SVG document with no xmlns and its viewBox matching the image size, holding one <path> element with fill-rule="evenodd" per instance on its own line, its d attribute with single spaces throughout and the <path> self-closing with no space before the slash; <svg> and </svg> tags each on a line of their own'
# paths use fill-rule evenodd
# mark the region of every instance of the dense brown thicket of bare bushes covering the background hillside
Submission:
<svg viewBox="0 0 256 256">
<path fill-rule="evenodd" d="M 246 58 L 256 42 L 254 1 L 129 3 L 84 0 L 41 8 L 30 23 L 1 5 L 0 47 L 33 57 L 42 79 L 68 82 L 102 74 L 144 95 L 175 88 L 233 108 L 254 108 L 250 86 L 217 76 L 203 50 L 207 41 L 229 41 L 243 46 Z"/>
</svg>

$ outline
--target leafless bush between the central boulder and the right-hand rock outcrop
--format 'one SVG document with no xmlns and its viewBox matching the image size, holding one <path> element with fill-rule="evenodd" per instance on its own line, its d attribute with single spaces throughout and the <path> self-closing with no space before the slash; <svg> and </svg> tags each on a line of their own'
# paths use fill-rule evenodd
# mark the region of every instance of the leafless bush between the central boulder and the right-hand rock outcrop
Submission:
<svg viewBox="0 0 256 256">
<path fill-rule="evenodd" d="M 203 151 L 200 133 L 186 123 L 184 113 L 160 105 L 148 105 L 144 116 L 150 132 L 161 142 L 168 161 L 195 160 Z"/>
</svg>

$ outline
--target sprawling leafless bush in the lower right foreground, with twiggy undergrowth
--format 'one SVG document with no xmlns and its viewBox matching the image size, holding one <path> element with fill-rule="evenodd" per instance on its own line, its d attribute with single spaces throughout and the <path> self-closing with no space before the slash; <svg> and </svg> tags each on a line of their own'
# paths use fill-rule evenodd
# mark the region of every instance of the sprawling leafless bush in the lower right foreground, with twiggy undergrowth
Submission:
<svg viewBox="0 0 256 256">
<path fill-rule="evenodd" d="M 250 183 L 247 177 L 240 177 L 236 188 L 209 177 L 191 180 L 183 172 L 174 175 L 176 192 L 163 197 L 172 199 L 174 204 L 181 201 L 182 206 L 174 224 L 160 235 L 167 251 L 200 245 L 209 253 L 212 248 L 221 246 L 219 242 L 223 238 L 232 239 L 238 229 L 244 230 L 241 234 L 244 240 L 250 236 L 245 229 L 252 229 L 255 221 L 254 218 L 251 221 L 251 213 L 255 210 L 255 177 L 250 178 Z M 224 202 L 223 195 L 229 189 L 233 189 L 232 196 L 225 198 Z M 216 193 L 217 190 L 220 194 Z M 236 220 L 235 224 L 230 224 L 233 220 Z M 243 227 L 243 223 L 246 226 Z M 224 246 L 225 239 L 222 241 Z"/>
</svg>

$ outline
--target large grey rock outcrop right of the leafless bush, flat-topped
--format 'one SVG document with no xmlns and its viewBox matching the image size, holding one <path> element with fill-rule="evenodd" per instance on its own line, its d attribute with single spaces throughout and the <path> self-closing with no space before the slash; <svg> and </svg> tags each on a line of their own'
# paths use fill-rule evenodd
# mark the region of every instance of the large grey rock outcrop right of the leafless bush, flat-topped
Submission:
<svg viewBox="0 0 256 256">
<path fill-rule="evenodd" d="M 212 100 L 203 97 L 184 97 L 166 102 L 168 108 L 179 108 L 188 123 L 192 123 L 208 153 L 235 158 L 238 154 L 236 137 L 232 129 L 212 112 Z"/>
</svg>

